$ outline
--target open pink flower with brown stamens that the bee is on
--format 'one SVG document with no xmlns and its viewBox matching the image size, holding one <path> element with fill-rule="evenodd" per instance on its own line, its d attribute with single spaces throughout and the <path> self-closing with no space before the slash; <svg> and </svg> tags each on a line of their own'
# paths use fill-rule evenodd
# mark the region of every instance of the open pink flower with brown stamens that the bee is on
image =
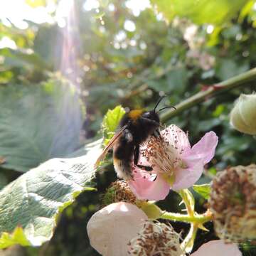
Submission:
<svg viewBox="0 0 256 256">
<path fill-rule="evenodd" d="M 162 200 L 170 187 L 178 191 L 193 186 L 218 144 L 215 132 L 208 132 L 191 148 L 188 135 L 174 124 L 161 131 L 161 137 L 151 137 L 141 146 L 139 164 L 152 166 L 153 171 L 134 166 L 134 178 L 128 181 L 139 199 Z"/>
</svg>

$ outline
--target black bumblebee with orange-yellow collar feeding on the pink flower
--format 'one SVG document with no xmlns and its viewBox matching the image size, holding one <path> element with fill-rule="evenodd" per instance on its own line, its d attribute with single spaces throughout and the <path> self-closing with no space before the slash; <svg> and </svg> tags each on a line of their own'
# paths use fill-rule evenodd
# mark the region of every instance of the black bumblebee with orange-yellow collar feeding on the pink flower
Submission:
<svg viewBox="0 0 256 256">
<path fill-rule="evenodd" d="M 156 107 L 158 107 L 163 98 L 161 97 L 156 102 L 153 110 L 131 110 L 124 114 L 124 117 L 119 122 L 119 129 L 117 129 L 117 132 L 110 139 L 105 149 L 103 149 L 102 154 L 100 154 L 95 163 L 95 168 L 105 158 L 107 152 L 113 148 L 114 169 L 119 178 L 124 178 L 124 180 L 132 179 L 132 163 L 140 169 L 152 171 L 151 166 L 138 164 L 139 145 L 145 142 L 151 135 L 161 137 L 159 131 L 159 112 L 161 110 L 169 107 L 176 110 L 175 107 L 169 106 L 156 111 Z"/>
</svg>

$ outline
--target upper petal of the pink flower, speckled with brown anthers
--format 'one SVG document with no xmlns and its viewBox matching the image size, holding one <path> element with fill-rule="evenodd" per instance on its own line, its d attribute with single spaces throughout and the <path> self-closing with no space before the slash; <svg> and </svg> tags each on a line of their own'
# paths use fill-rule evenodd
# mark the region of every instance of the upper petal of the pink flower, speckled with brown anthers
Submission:
<svg viewBox="0 0 256 256">
<path fill-rule="evenodd" d="M 169 143 L 177 149 L 178 152 L 191 148 L 188 141 L 188 135 L 175 124 L 171 124 L 169 127 L 162 130 L 161 135 L 167 139 Z"/>
</svg>

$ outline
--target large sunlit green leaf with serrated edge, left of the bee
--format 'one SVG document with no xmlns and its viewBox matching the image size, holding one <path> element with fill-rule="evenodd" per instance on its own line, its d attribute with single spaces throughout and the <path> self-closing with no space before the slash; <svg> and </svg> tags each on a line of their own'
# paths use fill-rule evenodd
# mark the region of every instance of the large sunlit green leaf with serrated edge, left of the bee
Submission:
<svg viewBox="0 0 256 256">
<path fill-rule="evenodd" d="M 100 152 L 101 140 L 88 144 L 84 156 L 50 159 L 0 191 L 0 245 L 21 243 L 20 238 L 33 246 L 50 240 L 63 209 L 82 191 L 93 189 L 93 166 Z M 4 234 L 13 233 L 17 226 L 23 228 L 23 236 L 20 231 L 18 239 Z"/>
</svg>

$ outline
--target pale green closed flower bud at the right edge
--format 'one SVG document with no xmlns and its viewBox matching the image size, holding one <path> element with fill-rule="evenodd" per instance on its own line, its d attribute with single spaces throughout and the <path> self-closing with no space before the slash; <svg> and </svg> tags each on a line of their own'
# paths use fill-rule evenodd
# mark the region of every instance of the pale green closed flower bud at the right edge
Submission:
<svg viewBox="0 0 256 256">
<path fill-rule="evenodd" d="M 256 134 L 256 94 L 240 95 L 230 114 L 230 123 L 239 132 Z"/>
</svg>

